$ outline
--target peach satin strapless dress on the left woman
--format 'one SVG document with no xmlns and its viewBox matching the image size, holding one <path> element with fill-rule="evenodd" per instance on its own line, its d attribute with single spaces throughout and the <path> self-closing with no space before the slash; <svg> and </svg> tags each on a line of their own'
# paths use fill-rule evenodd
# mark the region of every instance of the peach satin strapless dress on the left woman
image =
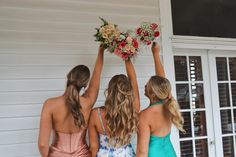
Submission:
<svg viewBox="0 0 236 157">
<path fill-rule="evenodd" d="M 91 157 L 85 142 L 86 131 L 62 133 L 54 131 L 48 157 Z"/>
</svg>

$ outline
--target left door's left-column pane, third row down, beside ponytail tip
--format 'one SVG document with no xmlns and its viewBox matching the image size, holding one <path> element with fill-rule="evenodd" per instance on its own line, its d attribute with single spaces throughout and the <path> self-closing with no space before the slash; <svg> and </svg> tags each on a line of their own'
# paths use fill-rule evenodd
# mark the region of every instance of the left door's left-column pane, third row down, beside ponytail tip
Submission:
<svg viewBox="0 0 236 157">
<path fill-rule="evenodd" d="M 180 132 L 180 138 L 183 137 L 192 137 L 192 127 L 191 127 L 191 115 L 190 112 L 183 112 L 182 116 L 184 118 L 184 130 L 186 131 L 185 134 Z"/>
</svg>

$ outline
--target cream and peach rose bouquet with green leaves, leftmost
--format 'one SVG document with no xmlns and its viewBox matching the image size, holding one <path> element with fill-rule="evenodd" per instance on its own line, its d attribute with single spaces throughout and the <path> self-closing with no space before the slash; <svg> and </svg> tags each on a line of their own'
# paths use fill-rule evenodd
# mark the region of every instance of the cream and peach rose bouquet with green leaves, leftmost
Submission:
<svg viewBox="0 0 236 157">
<path fill-rule="evenodd" d="M 120 31 L 117 25 L 108 23 L 106 20 L 100 17 L 103 24 L 100 28 L 96 28 L 97 33 L 94 35 L 96 40 L 101 43 L 104 49 L 108 48 L 111 43 L 120 36 Z"/>
</svg>

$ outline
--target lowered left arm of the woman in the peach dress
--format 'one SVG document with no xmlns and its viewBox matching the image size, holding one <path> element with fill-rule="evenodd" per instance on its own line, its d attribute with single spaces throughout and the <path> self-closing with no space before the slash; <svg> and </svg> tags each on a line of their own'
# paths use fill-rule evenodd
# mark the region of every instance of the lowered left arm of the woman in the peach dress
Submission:
<svg viewBox="0 0 236 157">
<path fill-rule="evenodd" d="M 46 101 L 43 105 L 41 113 L 39 139 L 38 139 L 38 148 L 42 157 L 48 156 L 51 130 L 52 130 L 52 112 L 50 109 L 49 102 Z"/>
</svg>

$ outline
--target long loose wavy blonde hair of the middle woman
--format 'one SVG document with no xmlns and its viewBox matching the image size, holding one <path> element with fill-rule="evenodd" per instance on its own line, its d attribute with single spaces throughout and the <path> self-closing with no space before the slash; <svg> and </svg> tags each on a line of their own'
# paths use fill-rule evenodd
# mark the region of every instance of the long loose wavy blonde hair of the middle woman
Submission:
<svg viewBox="0 0 236 157">
<path fill-rule="evenodd" d="M 130 143 L 132 133 L 137 131 L 138 116 L 133 88 L 127 76 L 112 77 L 106 90 L 105 109 L 109 144 L 121 146 Z M 115 143 L 111 143 L 114 138 Z"/>
</svg>

